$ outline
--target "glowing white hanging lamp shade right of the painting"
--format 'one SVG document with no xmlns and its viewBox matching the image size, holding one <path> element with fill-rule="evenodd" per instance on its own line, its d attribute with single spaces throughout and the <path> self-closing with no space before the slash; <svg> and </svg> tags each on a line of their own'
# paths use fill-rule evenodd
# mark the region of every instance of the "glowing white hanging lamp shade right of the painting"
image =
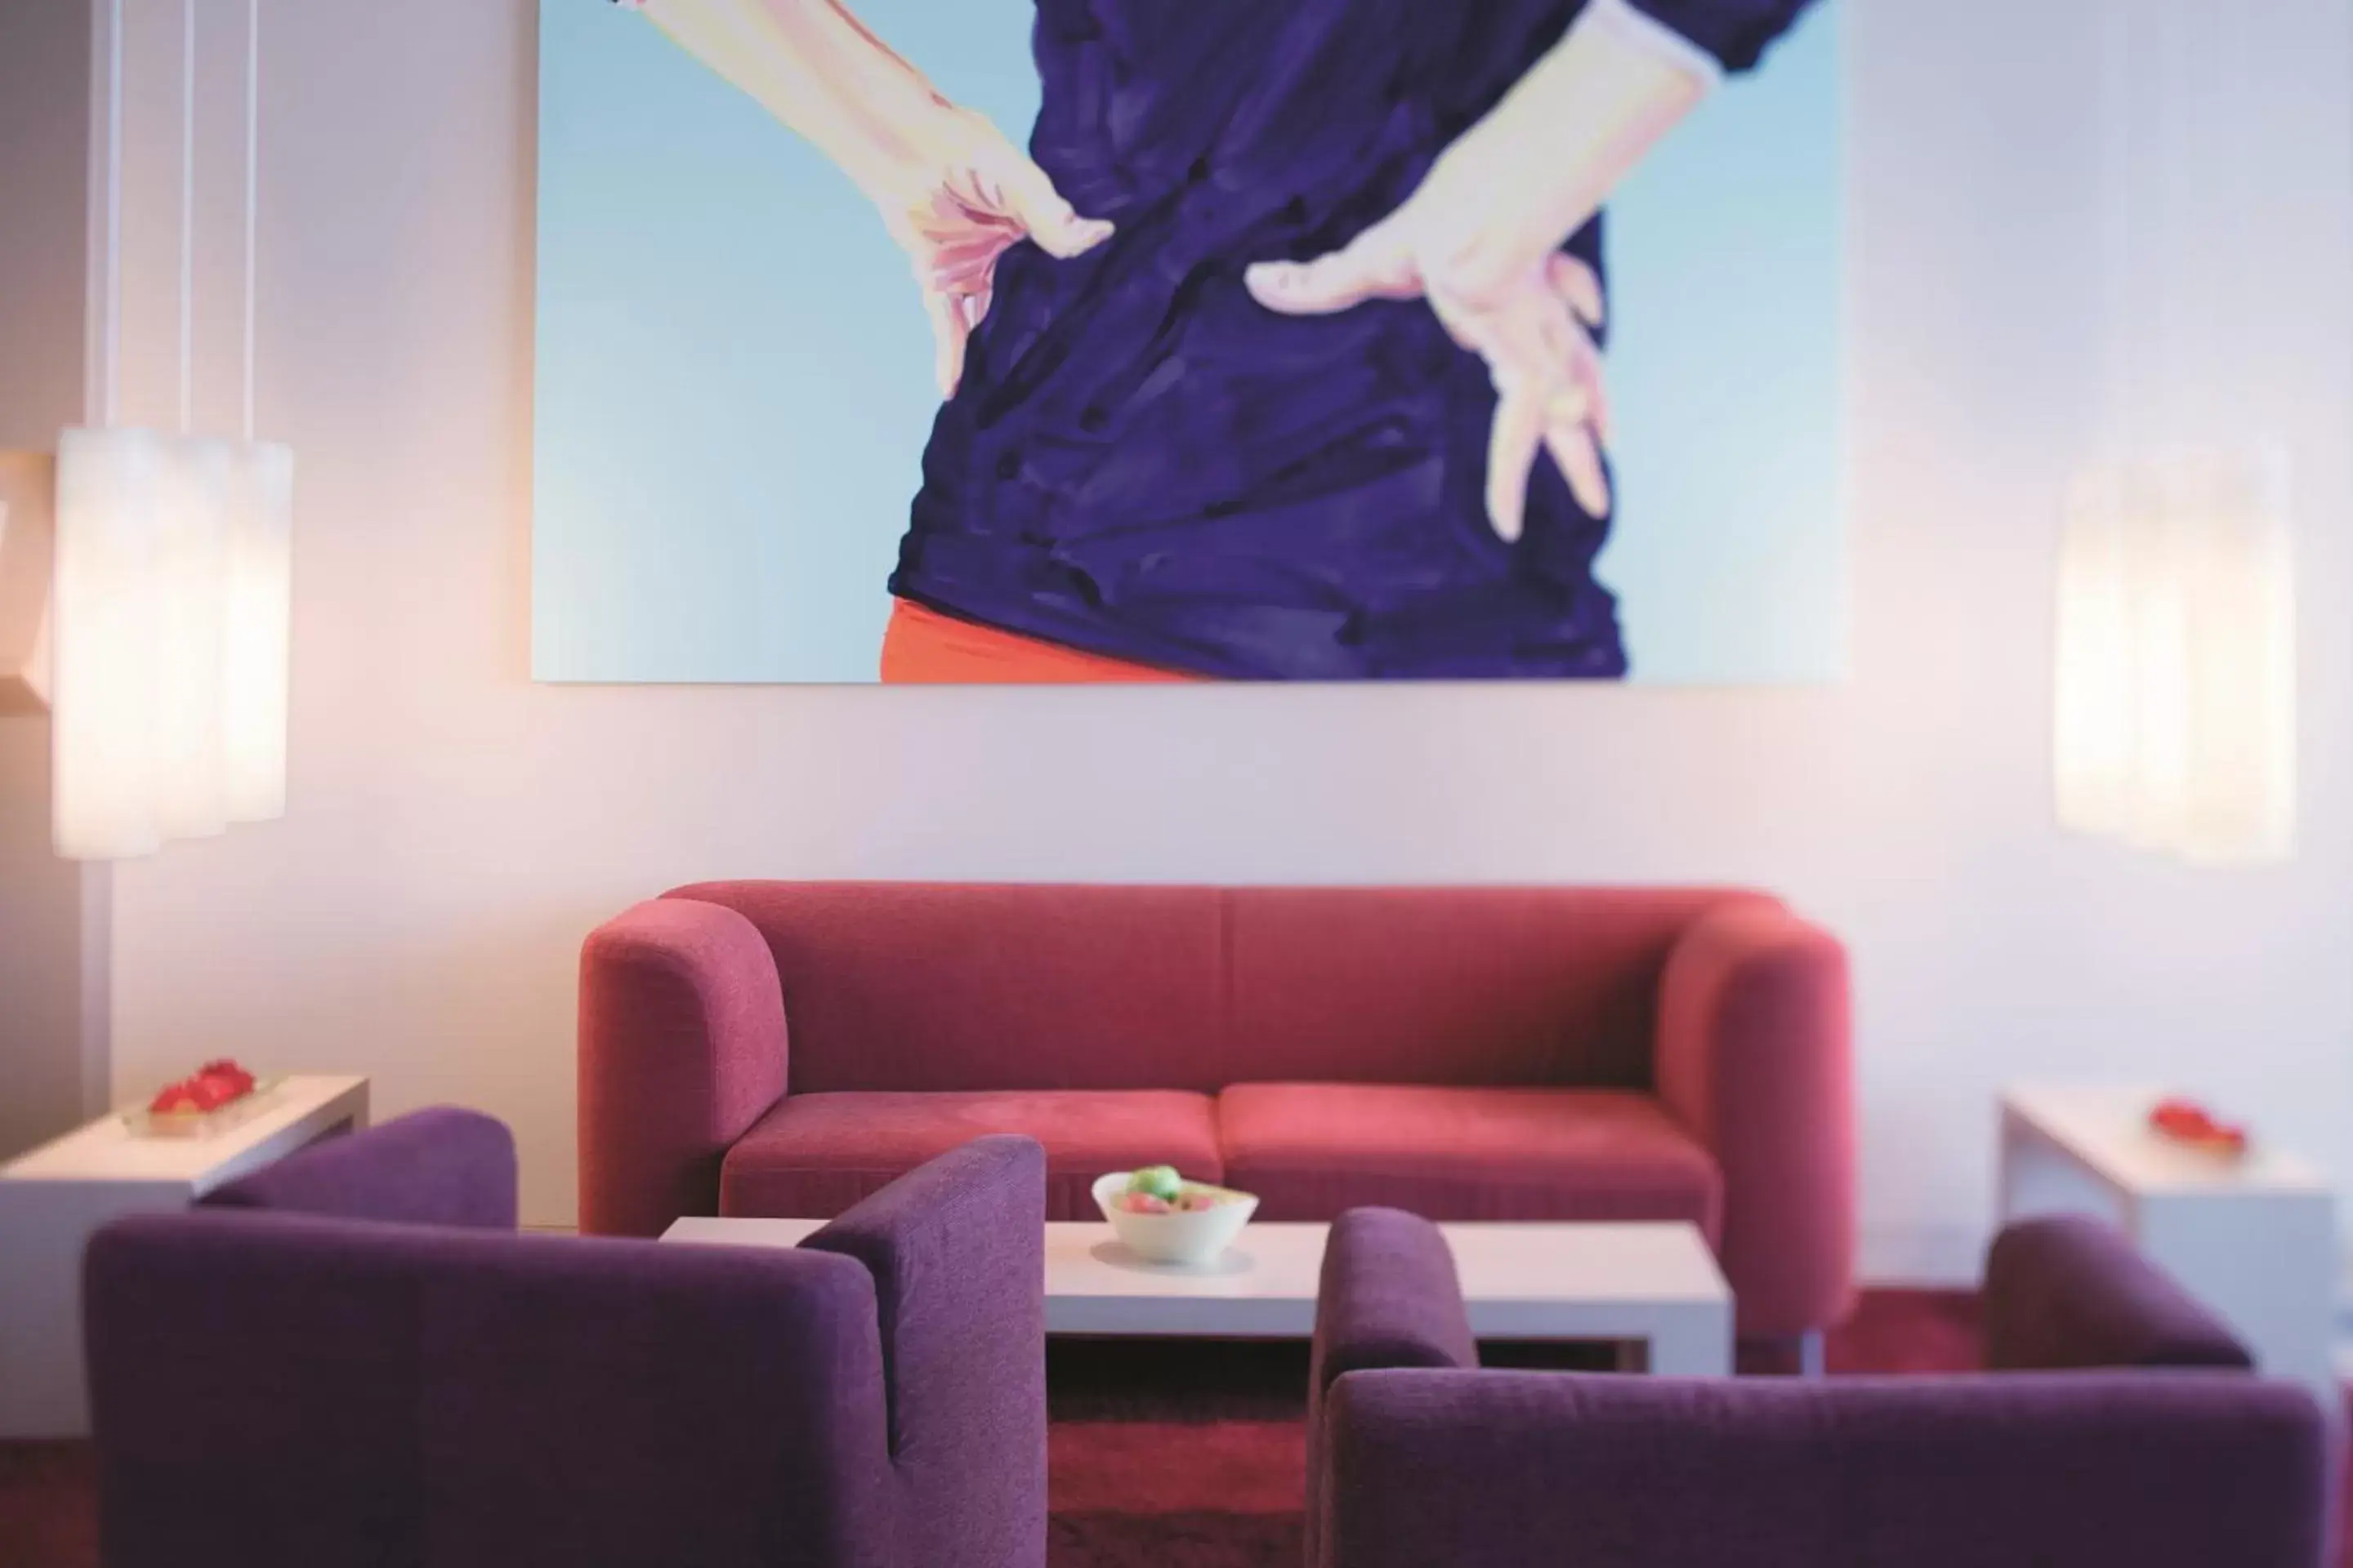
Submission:
<svg viewBox="0 0 2353 1568">
<path fill-rule="evenodd" d="M 2294 642 L 2282 456 L 2087 473 L 2059 555 L 2059 820 L 2198 863 L 2287 858 Z"/>
</svg>

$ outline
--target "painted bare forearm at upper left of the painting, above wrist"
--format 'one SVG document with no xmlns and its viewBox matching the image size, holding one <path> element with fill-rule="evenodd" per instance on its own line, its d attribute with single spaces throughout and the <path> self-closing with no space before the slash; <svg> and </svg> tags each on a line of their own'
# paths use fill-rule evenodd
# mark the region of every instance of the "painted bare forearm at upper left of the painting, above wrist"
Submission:
<svg viewBox="0 0 2353 1568">
<path fill-rule="evenodd" d="M 922 160 L 946 101 L 835 0 L 642 0 L 687 54 L 814 143 L 875 200 Z"/>
</svg>

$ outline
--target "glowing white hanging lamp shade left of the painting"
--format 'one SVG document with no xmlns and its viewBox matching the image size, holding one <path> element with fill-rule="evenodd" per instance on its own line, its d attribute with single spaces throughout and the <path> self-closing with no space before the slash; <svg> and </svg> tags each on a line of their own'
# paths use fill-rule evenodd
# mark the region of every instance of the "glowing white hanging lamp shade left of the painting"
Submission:
<svg viewBox="0 0 2353 1568">
<path fill-rule="evenodd" d="M 292 456 L 66 430 L 54 839 L 80 860 L 285 811 Z"/>
</svg>

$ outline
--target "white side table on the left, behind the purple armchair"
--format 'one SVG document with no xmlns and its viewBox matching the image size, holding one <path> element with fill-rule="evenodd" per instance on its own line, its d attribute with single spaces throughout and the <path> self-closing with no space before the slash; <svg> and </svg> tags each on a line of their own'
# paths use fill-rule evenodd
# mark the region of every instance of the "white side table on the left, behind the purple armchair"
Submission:
<svg viewBox="0 0 2353 1568">
<path fill-rule="evenodd" d="M 82 1244 L 125 1213 L 186 1208 L 327 1133 L 367 1126 L 367 1079 L 289 1077 L 209 1138 L 101 1117 L 0 1166 L 0 1439 L 82 1436 Z"/>
</svg>

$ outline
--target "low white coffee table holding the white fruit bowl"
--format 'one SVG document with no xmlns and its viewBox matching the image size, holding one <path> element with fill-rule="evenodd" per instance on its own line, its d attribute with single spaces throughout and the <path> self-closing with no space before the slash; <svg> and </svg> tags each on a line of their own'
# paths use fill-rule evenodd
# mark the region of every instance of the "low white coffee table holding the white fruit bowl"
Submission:
<svg viewBox="0 0 2353 1568">
<path fill-rule="evenodd" d="M 824 1220 L 685 1218 L 664 1241 L 800 1246 Z M 1440 1225 L 1482 1340 L 1600 1340 L 1673 1378 L 1732 1371 L 1732 1288 L 1689 1225 Z M 1108 1225 L 1045 1227 L 1047 1333 L 1304 1340 L 1325 1225 L 1252 1225 L 1224 1260 L 1139 1260 Z"/>
</svg>

